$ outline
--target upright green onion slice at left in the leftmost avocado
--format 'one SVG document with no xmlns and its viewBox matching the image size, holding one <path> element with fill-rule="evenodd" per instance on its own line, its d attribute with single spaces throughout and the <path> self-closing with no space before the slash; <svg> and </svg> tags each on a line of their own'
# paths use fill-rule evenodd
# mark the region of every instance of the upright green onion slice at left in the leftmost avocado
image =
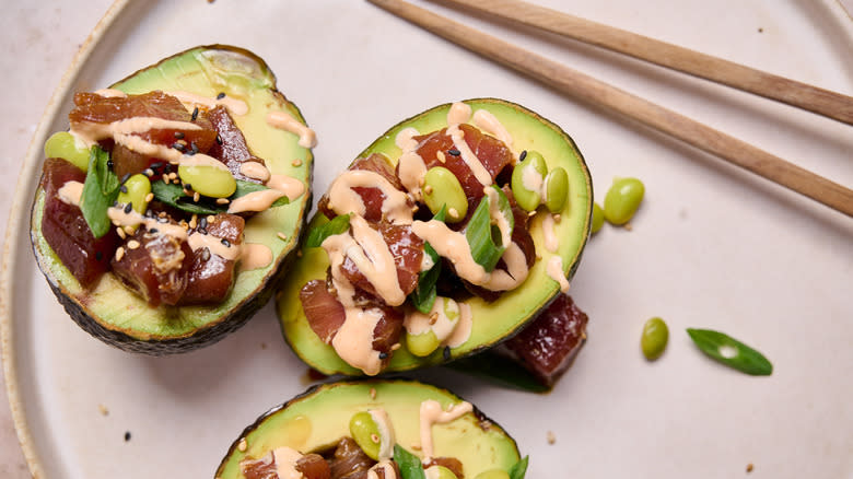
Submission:
<svg viewBox="0 0 853 479">
<path fill-rule="evenodd" d="M 107 210 L 118 198 L 118 177 L 109 168 L 109 154 L 101 148 L 92 148 L 89 155 L 89 170 L 83 183 L 80 210 L 86 220 L 92 235 L 96 238 L 109 232 Z"/>
</svg>

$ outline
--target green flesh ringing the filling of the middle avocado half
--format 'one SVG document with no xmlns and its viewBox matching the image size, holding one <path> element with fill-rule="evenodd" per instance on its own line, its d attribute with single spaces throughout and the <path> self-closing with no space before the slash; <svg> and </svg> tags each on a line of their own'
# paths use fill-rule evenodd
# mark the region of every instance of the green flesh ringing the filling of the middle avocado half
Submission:
<svg viewBox="0 0 853 479">
<path fill-rule="evenodd" d="M 472 112 L 487 109 L 494 115 L 513 137 L 512 149 L 516 153 L 524 150 L 538 151 L 545 157 L 549 171 L 558 166 L 566 171 L 569 197 L 560 211 L 560 222 L 554 225 L 554 234 L 559 238 L 557 255 L 562 258 L 563 272 L 571 279 L 589 236 L 593 208 L 592 179 L 581 152 L 560 127 L 519 105 L 493 98 L 464 103 L 470 105 Z M 384 153 L 396 164 L 401 154 L 395 144 L 397 133 L 410 127 L 422 135 L 440 130 L 447 126 L 449 108 L 451 104 L 441 105 L 398 124 L 367 147 L 360 156 Z M 541 259 L 536 260 L 527 280 L 492 303 L 480 297 L 466 301 L 472 315 L 471 334 L 466 342 L 452 348 L 448 357 L 445 357 L 444 348 L 439 348 L 425 358 L 411 354 L 404 344 L 394 352 L 385 371 L 407 371 L 440 364 L 490 348 L 512 337 L 546 307 L 560 292 L 560 288 L 546 270 L 548 260 L 554 254 L 547 252 L 544 245 L 544 217 L 545 214 L 539 212 L 529 225 L 537 255 L 541 256 Z M 326 217 L 317 214 L 308 227 L 326 221 Z M 360 370 L 347 364 L 331 346 L 324 343 L 314 334 L 300 303 L 300 289 L 311 280 L 325 278 L 328 266 L 324 249 L 303 247 L 302 257 L 291 268 L 284 287 L 277 296 L 281 329 L 296 354 L 312 367 L 324 374 L 361 375 L 363 373 Z"/>
</svg>

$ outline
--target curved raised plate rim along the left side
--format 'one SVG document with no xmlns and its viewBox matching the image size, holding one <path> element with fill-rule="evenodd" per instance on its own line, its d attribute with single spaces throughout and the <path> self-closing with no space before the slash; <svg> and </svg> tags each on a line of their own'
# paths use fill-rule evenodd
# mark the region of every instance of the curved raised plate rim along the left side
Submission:
<svg viewBox="0 0 853 479">
<path fill-rule="evenodd" d="M 121 13 L 129 3 L 130 0 L 115 0 L 113 4 L 109 5 L 109 9 L 104 13 L 104 16 L 101 17 L 81 45 L 80 49 L 78 49 L 71 65 L 66 70 L 62 79 L 54 91 L 50 101 L 47 103 L 45 113 L 38 122 L 38 127 L 33 135 L 33 139 L 30 142 L 30 148 L 26 151 L 26 159 L 21 166 L 15 194 L 12 197 L 9 222 L 7 223 L 2 256 L 3 262 L 2 268 L 0 269 L 0 344 L 2 344 L 3 375 L 5 378 L 9 406 L 12 410 L 12 421 L 14 422 L 17 441 L 23 449 L 30 474 L 34 479 L 44 478 L 45 474 L 42 466 L 42 459 L 38 456 L 35 442 L 33 441 L 30 431 L 30 424 L 26 420 L 17 384 L 15 344 L 14 341 L 12 341 L 12 337 L 14 334 L 13 318 L 15 314 L 13 279 L 15 271 L 20 268 L 20 262 L 19 258 L 15 257 L 14 252 L 16 252 L 20 246 L 19 242 L 21 240 L 20 232 L 23 224 L 22 222 L 28 218 L 30 209 L 27 206 L 32 201 L 34 187 L 32 178 L 36 176 L 37 168 L 40 164 L 40 161 L 37 161 L 37 156 L 40 156 L 42 145 L 47 138 L 48 128 L 65 104 L 81 69 L 86 63 L 86 60 L 92 56 L 92 52 L 98 46 L 109 27 L 115 23 L 119 13 Z"/>
</svg>

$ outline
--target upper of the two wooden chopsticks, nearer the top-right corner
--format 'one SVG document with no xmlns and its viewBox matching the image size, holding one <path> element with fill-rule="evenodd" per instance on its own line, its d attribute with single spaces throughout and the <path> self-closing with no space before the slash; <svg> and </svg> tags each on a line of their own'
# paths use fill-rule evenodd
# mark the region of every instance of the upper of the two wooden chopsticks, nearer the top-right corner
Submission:
<svg viewBox="0 0 853 479">
<path fill-rule="evenodd" d="M 441 0 L 853 125 L 853 97 L 521 0 Z"/>
</svg>

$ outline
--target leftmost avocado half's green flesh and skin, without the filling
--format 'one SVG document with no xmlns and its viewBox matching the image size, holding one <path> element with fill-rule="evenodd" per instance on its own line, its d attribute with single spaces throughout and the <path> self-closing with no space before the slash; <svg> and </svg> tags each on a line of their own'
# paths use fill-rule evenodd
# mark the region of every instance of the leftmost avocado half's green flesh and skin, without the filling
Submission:
<svg viewBox="0 0 853 479">
<path fill-rule="evenodd" d="M 31 218 L 33 250 L 50 289 L 80 327 L 122 350 L 154 355 L 213 343 L 243 326 L 269 301 L 296 249 L 311 208 L 314 156 L 309 149 L 297 144 L 296 135 L 268 126 L 266 116 L 272 110 L 283 110 L 303 124 L 305 120 L 299 108 L 276 89 L 276 77 L 267 63 L 255 54 L 232 46 L 211 45 L 179 52 L 110 87 L 128 94 L 162 90 L 211 97 L 224 92 L 243 100 L 249 112 L 234 115 L 233 119 L 249 150 L 264 159 L 271 173 L 294 177 L 306 187 L 305 194 L 289 205 L 271 208 L 246 221 L 245 241 L 268 246 L 272 250 L 270 265 L 250 271 L 237 270 L 233 290 L 221 304 L 180 307 L 149 306 L 112 272 L 104 274 L 93 290 L 84 290 L 42 235 L 45 194 L 40 187 L 37 189 Z"/>
</svg>

